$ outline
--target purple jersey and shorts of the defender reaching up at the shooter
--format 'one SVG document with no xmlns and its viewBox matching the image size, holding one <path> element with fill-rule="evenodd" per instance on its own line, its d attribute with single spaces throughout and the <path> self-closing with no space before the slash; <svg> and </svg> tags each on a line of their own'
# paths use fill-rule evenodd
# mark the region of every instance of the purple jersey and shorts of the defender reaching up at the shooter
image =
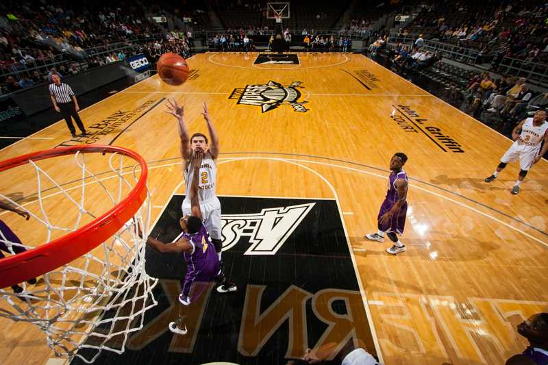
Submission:
<svg viewBox="0 0 548 365">
<path fill-rule="evenodd" d="M 186 298 L 193 284 L 213 281 L 219 275 L 219 255 L 215 252 L 215 247 L 203 224 L 195 234 L 184 233 L 182 237 L 194 247 L 192 251 L 184 253 L 187 269 L 182 281 L 182 294 Z"/>
</svg>

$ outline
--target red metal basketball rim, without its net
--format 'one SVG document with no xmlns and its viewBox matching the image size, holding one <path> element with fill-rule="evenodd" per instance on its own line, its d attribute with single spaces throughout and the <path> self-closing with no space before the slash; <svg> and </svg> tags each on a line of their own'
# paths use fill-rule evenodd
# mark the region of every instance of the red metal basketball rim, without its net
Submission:
<svg viewBox="0 0 548 365">
<path fill-rule="evenodd" d="M 126 155 L 140 164 L 140 178 L 125 199 L 94 221 L 35 249 L 29 249 L 17 255 L 0 259 L 0 288 L 18 284 L 33 277 L 39 277 L 88 253 L 99 246 L 101 242 L 112 237 L 134 216 L 147 199 L 147 163 L 138 153 L 123 147 L 79 145 L 47 149 L 0 162 L 0 171 L 27 164 L 30 160 L 45 160 L 61 155 L 72 155 L 77 152 L 108 152 Z"/>
</svg>

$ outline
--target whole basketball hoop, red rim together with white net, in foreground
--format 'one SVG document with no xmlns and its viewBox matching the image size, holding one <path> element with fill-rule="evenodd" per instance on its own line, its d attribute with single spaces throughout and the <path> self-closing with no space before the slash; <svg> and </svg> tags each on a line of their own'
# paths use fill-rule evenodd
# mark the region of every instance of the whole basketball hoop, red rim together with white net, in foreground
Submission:
<svg viewBox="0 0 548 365">
<path fill-rule="evenodd" d="M 53 179 L 59 168 L 69 181 Z M 103 349 L 122 353 L 129 333 L 157 304 L 157 279 L 145 272 L 151 212 L 145 160 L 121 147 L 60 147 L 0 162 L 5 171 L 36 176 L 36 201 L 23 206 L 4 192 L 0 197 L 30 214 L 32 234 L 45 243 L 10 242 L 0 231 L 12 253 L 0 259 L 0 316 L 40 327 L 58 356 L 90 363 Z M 27 251 L 14 254 L 14 247 Z M 24 282 L 35 277 L 36 285 Z M 17 284 L 19 294 L 5 288 Z"/>
</svg>

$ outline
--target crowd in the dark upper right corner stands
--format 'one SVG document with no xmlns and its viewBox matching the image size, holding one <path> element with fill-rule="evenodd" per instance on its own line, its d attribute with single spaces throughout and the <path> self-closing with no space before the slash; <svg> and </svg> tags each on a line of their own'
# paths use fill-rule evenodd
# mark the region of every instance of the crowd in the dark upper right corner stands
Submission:
<svg viewBox="0 0 548 365">
<path fill-rule="evenodd" d="M 548 3 L 502 4 L 429 3 L 401 34 L 428 32 L 427 38 L 475 49 L 478 63 L 493 61 L 496 66 L 505 56 L 547 63 Z"/>
</svg>

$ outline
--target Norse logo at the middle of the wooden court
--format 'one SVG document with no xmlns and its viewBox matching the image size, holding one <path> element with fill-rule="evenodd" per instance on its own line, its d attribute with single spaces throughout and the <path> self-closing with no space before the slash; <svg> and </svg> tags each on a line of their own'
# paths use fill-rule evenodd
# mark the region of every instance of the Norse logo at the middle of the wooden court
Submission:
<svg viewBox="0 0 548 365">
<path fill-rule="evenodd" d="M 303 104 L 308 101 L 299 101 L 301 92 L 301 81 L 293 81 L 290 85 L 284 86 L 275 81 L 269 81 L 262 85 L 247 85 L 245 88 L 236 88 L 229 96 L 229 99 L 238 100 L 237 104 L 257 105 L 263 113 L 278 108 L 279 105 L 291 105 L 295 112 L 308 112 Z"/>
</svg>

